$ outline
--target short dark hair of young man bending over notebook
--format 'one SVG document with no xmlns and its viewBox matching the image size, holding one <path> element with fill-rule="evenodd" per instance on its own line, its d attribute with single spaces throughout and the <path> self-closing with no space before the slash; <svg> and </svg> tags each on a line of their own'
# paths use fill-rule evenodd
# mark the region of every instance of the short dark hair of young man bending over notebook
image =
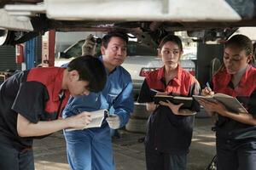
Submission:
<svg viewBox="0 0 256 170">
<path fill-rule="evenodd" d="M 67 71 L 78 71 L 79 80 L 89 82 L 90 92 L 100 92 L 107 81 L 107 73 L 100 59 L 91 55 L 80 56 L 67 65 Z"/>
</svg>

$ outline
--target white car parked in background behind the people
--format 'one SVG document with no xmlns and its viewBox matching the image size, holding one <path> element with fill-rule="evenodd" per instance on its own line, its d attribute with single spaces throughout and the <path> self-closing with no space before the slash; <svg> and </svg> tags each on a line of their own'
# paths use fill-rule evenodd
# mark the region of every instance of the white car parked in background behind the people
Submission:
<svg viewBox="0 0 256 170">
<path fill-rule="evenodd" d="M 80 49 L 83 43 L 84 40 L 80 40 L 79 42 L 74 43 L 64 52 L 62 52 L 63 57 L 55 59 L 55 66 L 64 65 L 72 60 L 74 56 L 80 56 Z M 131 80 L 134 89 L 134 99 L 137 99 L 140 88 L 143 85 L 143 80 L 146 74 L 145 71 L 154 71 L 156 69 L 159 69 L 163 65 L 163 63 L 159 57 L 149 55 L 154 54 L 155 52 L 154 50 L 152 51 L 152 48 L 148 48 L 137 42 L 129 42 L 127 50 L 128 54 L 131 54 L 131 56 L 127 56 L 122 66 L 125 68 L 126 71 L 131 74 Z M 192 60 L 181 59 L 180 65 L 185 70 L 189 71 L 192 75 L 195 76 L 195 63 Z"/>
</svg>

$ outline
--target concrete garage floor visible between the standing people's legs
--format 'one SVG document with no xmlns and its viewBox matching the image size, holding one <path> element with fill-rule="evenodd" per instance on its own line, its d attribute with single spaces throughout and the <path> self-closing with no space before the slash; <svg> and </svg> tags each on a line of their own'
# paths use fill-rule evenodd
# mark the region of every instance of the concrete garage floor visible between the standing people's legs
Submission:
<svg viewBox="0 0 256 170">
<path fill-rule="evenodd" d="M 188 170 L 203 170 L 215 155 L 215 135 L 211 131 L 213 121 L 202 117 L 195 119 L 195 130 L 188 158 Z M 143 133 L 121 131 L 120 139 L 113 139 L 117 170 L 143 170 L 145 167 L 144 146 L 137 139 Z M 54 133 L 45 139 L 35 140 L 34 156 L 37 170 L 69 169 L 65 141 L 62 133 Z"/>
</svg>

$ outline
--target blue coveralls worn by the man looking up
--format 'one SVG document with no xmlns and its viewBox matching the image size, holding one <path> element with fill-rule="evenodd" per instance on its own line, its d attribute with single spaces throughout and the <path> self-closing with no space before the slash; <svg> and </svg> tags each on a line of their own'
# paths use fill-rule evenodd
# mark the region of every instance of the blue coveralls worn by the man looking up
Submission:
<svg viewBox="0 0 256 170">
<path fill-rule="evenodd" d="M 132 82 L 130 74 L 121 66 L 108 74 L 108 81 L 101 93 L 71 97 L 62 117 L 74 116 L 81 111 L 108 109 L 120 117 L 121 127 L 128 122 L 133 111 Z M 113 170 L 113 150 L 110 128 L 106 120 L 102 127 L 65 131 L 67 160 L 71 169 Z"/>
</svg>

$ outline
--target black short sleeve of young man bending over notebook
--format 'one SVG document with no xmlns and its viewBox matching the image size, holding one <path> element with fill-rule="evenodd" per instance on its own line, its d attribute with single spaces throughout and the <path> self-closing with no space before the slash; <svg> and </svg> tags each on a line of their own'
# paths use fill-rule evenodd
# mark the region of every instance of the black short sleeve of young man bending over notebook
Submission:
<svg viewBox="0 0 256 170">
<path fill-rule="evenodd" d="M 12 110 L 37 123 L 44 114 L 46 101 L 49 99 L 47 89 L 41 82 L 22 82 L 15 97 Z"/>
</svg>

